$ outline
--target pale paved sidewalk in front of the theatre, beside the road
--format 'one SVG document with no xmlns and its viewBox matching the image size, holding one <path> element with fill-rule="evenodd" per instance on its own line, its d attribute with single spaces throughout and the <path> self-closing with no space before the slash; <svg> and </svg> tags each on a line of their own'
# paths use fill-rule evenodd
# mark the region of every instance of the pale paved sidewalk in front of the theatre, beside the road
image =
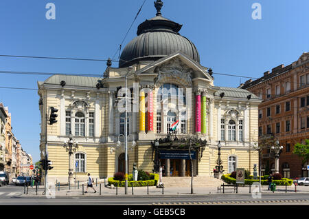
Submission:
<svg viewBox="0 0 309 219">
<path fill-rule="evenodd" d="M 86 187 L 84 186 L 84 191 L 86 191 Z M 58 191 L 58 187 L 54 187 L 52 189 L 52 195 L 56 197 L 91 197 L 91 196 L 100 196 L 100 185 L 94 186 L 95 190 L 97 191 L 94 193 L 93 189 L 89 188 L 87 193 L 82 194 L 82 185 L 80 185 L 80 188 L 78 189 L 77 186 L 69 187 L 67 186 L 60 186 L 60 191 Z M 262 194 L 272 194 L 272 191 L 268 191 L 268 186 L 262 186 L 261 192 Z M 286 190 L 287 189 L 287 190 Z M 250 194 L 249 193 L 250 188 L 249 187 L 238 187 L 238 194 Z M 36 195 L 36 189 L 35 187 L 28 188 L 28 194 L 22 194 L 23 197 L 27 196 L 45 196 L 43 195 L 44 186 L 40 186 L 38 188 L 38 194 Z M 233 190 L 225 189 L 225 194 L 218 193 L 217 187 L 196 187 L 193 189 L 194 195 L 209 195 L 209 194 L 236 194 Z M 275 194 L 285 194 L 287 191 L 287 194 L 289 193 L 295 193 L 295 186 L 288 186 L 287 188 L 285 186 L 277 186 L 277 189 L 275 191 Z M 251 187 L 251 193 L 258 192 L 258 188 Z M 134 187 L 132 194 L 132 188 L 128 187 L 128 194 L 125 195 L 124 188 L 118 188 L 115 187 L 111 189 L 111 187 L 104 187 L 104 183 L 101 184 L 101 196 L 186 196 L 191 195 L 191 189 L 190 187 L 168 187 L 164 189 L 159 189 L 157 187 Z M 309 194 L 309 187 L 306 186 L 297 186 L 297 193 L 308 193 Z"/>
</svg>

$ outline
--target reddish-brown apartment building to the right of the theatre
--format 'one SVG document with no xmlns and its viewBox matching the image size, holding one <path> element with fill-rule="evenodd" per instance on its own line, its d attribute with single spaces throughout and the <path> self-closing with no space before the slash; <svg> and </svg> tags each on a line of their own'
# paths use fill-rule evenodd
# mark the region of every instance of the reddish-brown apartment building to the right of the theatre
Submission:
<svg viewBox="0 0 309 219">
<path fill-rule="evenodd" d="M 279 159 L 279 172 L 287 178 L 308 176 L 308 163 L 293 154 L 295 143 L 309 138 L 309 52 L 288 66 L 279 65 L 255 81 L 239 88 L 263 99 L 259 105 L 259 136 L 272 135 L 284 146 Z M 265 150 L 262 173 L 275 171 L 271 151 Z M 268 174 L 268 173 L 266 173 Z"/>
</svg>

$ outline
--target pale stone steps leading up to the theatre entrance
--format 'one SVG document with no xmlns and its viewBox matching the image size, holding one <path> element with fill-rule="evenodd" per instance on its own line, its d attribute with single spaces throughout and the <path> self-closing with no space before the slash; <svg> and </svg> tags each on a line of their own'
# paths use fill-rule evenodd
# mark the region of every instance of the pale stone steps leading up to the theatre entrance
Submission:
<svg viewBox="0 0 309 219">
<path fill-rule="evenodd" d="M 218 187 L 224 183 L 211 176 L 196 176 L 193 187 Z M 164 187 L 191 187 L 191 177 L 163 177 Z"/>
</svg>

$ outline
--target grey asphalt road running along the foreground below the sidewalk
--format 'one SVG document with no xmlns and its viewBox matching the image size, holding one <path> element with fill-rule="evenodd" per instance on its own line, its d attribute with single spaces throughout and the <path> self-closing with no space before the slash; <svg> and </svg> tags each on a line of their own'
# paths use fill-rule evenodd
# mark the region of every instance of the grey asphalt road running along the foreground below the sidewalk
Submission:
<svg viewBox="0 0 309 219">
<path fill-rule="evenodd" d="M 23 196 L 24 187 L 0 187 L 0 205 L 309 205 L 309 194 L 210 194 L 206 196 L 87 196 L 45 198 Z"/>
</svg>

